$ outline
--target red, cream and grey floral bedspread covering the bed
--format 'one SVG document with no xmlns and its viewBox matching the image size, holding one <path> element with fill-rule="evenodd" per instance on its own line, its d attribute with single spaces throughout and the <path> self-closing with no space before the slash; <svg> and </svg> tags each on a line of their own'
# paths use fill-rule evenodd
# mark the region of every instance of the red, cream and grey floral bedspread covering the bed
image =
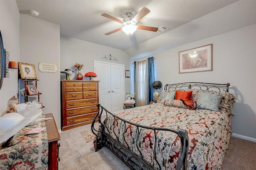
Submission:
<svg viewBox="0 0 256 170">
<path fill-rule="evenodd" d="M 189 170 L 220 169 L 232 133 L 230 116 L 224 110 L 190 110 L 157 103 L 117 111 L 114 114 L 140 125 L 186 129 L 189 137 L 187 158 Z M 122 144 L 138 155 L 141 152 L 144 159 L 156 168 L 158 166 L 154 161 L 154 150 L 161 170 L 175 169 L 180 151 L 180 139 L 175 133 L 156 131 L 157 145 L 154 148 L 155 139 L 152 130 L 139 128 L 140 133 L 136 133 L 135 126 L 124 125 L 113 116 L 107 118 L 105 131 L 116 139 L 118 137 Z M 124 137 L 122 134 L 125 134 Z"/>
</svg>

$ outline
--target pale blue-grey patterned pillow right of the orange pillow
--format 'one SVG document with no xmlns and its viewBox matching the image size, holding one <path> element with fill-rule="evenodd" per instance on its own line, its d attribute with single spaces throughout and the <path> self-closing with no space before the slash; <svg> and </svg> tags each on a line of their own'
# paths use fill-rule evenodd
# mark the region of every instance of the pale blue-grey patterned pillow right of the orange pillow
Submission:
<svg viewBox="0 0 256 170">
<path fill-rule="evenodd" d="M 198 92 L 196 108 L 219 111 L 219 104 L 220 104 L 221 97 L 222 97 L 222 94 Z"/>
</svg>

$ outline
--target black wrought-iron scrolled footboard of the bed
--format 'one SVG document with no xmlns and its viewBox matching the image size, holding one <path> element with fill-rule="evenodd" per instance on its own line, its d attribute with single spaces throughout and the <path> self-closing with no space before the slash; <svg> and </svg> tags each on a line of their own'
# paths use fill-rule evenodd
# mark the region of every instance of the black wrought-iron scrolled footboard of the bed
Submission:
<svg viewBox="0 0 256 170">
<path fill-rule="evenodd" d="M 161 128 L 161 127 L 149 127 L 149 126 L 144 126 L 144 125 L 139 125 L 132 123 L 130 121 L 126 121 L 112 113 L 110 113 L 107 109 L 105 109 L 103 106 L 100 104 L 97 104 L 98 107 L 98 112 L 94 117 L 94 120 L 92 122 L 92 133 L 96 135 L 96 140 L 94 141 L 94 147 L 96 152 L 100 150 L 102 147 L 106 146 L 108 147 L 116 156 L 118 156 L 127 166 L 129 166 L 131 169 L 135 170 L 158 170 L 160 168 L 160 162 L 156 160 L 156 152 L 154 149 L 154 162 L 156 162 L 156 165 L 153 166 L 149 162 L 147 162 L 144 158 L 142 153 L 136 154 L 134 153 L 129 147 L 124 140 L 124 144 L 122 144 L 119 139 L 118 135 L 114 133 L 114 137 L 110 136 L 110 130 L 105 128 L 106 127 L 106 122 L 105 122 L 105 117 L 102 118 L 102 113 L 106 114 L 106 119 L 108 118 L 109 115 L 112 115 L 115 119 L 118 119 L 122 123 L 124 123 L 125 128 L 126 124 L 131 124 L 136 126 L 137 128 L 137 135 L 140 134 L 139 128 L 144 128 L 144 129 L 151 129 L 154 131 L 154 139 L 155 139 L 155 144 L 154 148 L 156 148 L 157 142 L 156 142 L 156 131 L 170 131 L 173 133 L 176 133 L 178 137 L 180 138 L 180 152 L 178 156 L 178 161 L 176 164 L 176 170 L 185 170 L 186 169 L 186 160 L 188 156 L 188 146 L 189 146 L 189 140 L 188 140 L 188 132 L 186 130 L 179 129 L 174 130 L 174 129 L 168 129 L 168 128 Z M 104 120 L 102 120 L 104 119 Z M 98 122 L 99 129 L 96 129 L 94 127 L 94 124 Z M 115 123 L 116 121 L 114 121 Z M 104 131 L 104 129 L 106 129 Z M 120 136 L 120 135 L 119 135 Z M 124 134 L 122 134 L 124 138 Z M 138 141 L 137 141 L 138 142 Z M 137 145 L 138 148 L 138 145 Z M 156 167 L 157 166 L 157 167 Z"/>
</svg>

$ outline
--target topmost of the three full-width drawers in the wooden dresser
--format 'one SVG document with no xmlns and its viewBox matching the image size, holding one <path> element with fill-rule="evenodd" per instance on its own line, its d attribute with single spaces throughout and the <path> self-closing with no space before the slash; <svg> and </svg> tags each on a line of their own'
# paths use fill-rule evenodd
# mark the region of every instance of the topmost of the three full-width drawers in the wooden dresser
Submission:
<svg viewBox="0 0 256 170">
<path fill-rule="evenodd" d="M 81 99 L 81 100 L 70 100 L 66 101 L 66 109 L 75 108 L 75 107 L 83 107 L 83 106 L 96 106 L 98 103 L 97 98 L 91 99 Z"/>
</svg>

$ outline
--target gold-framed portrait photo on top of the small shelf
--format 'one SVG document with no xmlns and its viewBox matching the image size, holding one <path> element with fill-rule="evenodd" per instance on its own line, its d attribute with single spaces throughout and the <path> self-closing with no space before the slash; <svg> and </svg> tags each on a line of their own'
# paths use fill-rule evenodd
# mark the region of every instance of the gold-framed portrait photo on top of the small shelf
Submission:
<svg viewBox="0 0 256 170">
<path fill-rule="evenodd" d="M 36 80 L 36 67 L 35 64 L 28 64 L 19 62 L 20 77 L 22 79 Z"/>
</svg>

